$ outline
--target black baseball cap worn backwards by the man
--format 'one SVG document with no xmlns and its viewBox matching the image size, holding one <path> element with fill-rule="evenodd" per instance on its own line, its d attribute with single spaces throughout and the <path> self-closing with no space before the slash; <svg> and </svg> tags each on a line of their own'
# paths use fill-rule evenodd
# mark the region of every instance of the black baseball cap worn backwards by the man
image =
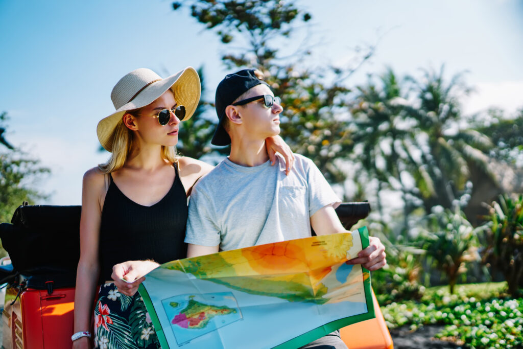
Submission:
<svg viewBox="0 0 523 349">
<path fill-rule="evenodd" d="M 214 98 L 214 105 L 216 106 L 216 114 L 218 115 L 218 126 L 214 131 L 211 144 L 214 145 L 229 145 L 231 144 L 231 137 L 222 126 L 223 118 L 225 116 L 225 108 L 231 105 L 234 100 L 242 94 L 253 88 L 256 85 L 265 84 L 265 81 L 259 80 L 254 73 L 254 69 L 244 69 L 236 73 L 227 74 L 216 88 L 216 96 Z"/>
</svg>

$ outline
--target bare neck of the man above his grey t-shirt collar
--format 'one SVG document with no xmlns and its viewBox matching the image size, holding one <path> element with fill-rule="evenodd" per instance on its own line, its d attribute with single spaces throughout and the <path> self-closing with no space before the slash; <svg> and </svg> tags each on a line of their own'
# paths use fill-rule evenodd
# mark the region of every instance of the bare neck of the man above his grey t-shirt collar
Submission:
<svg viewBox="0 0 523 349">
<path fill-rule="evenodd" d="M 229 160 L 237 165 L 253 167 L 269 160 L 265 140 L 234 139 Z"/>
</svg>

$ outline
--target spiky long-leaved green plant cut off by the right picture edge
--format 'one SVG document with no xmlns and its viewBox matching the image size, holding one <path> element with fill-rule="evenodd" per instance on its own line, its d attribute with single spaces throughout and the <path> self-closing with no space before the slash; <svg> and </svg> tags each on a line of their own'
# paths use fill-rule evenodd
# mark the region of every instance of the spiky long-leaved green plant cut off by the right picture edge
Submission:
<svg viewBox="0 0 523 349">
<path fill-rule="evenodd" d="M 499 196 L 499 202 L 492 202 L 485 218 L 488 230 L 484 261 L 503 273 L 509 293 L 515 297 L 523 287 L 523 195 Z"/>
</svg>

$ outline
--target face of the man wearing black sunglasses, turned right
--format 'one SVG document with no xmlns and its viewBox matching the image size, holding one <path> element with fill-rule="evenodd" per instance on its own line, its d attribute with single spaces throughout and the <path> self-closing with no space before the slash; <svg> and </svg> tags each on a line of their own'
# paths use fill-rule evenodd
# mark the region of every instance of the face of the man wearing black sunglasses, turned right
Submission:
<svg viewBox="0 0 523 349">
<path fill-rule="evenodd" d="M 249 89 L 242 99 L 261 95 L 274 97 L 267 85 L 260 84 Z M 237 108 L 242 117 L 243 128 L 249 138 L 262 140 L 280 133 L 280 112 L 283 110 L 281 105 L 274 103 L 272 107 L 267 107 L 264 98 L 260 97 L 260 99 Z"/>
</svg>

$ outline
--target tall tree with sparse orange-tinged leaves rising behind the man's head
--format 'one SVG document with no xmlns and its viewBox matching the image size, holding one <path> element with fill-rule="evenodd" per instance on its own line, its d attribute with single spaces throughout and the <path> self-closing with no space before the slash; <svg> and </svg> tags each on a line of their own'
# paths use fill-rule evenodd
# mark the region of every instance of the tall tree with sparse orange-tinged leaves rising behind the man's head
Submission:
<svg viewBox="0 0 523 349">
<path fill-rule="evenodd" d="M 312 16 L 295 1 L 189 0 L 173 8 L 189 7 L 190 15 L 213 30 L 229 49 L 222 57 L 228 69 L 254 67 L 265 74 L 274 93 L 282 98 L 281 136 L 293 151 L 311 157 L 332 183 L 346 178 L 336 159 L 347 154 L 353 141 L 348 124 L 345 81 L 356 67 L 306 68 L 311 54 L 307 44 L 288 52 L 299 25 L 308 26 Z M 241 49 L 234 49 L 233 43 Z M 283 52 L 285 51 L 285 52 Z M 359 63 L 370 57 L 371 49 Z"/>
</svg>

